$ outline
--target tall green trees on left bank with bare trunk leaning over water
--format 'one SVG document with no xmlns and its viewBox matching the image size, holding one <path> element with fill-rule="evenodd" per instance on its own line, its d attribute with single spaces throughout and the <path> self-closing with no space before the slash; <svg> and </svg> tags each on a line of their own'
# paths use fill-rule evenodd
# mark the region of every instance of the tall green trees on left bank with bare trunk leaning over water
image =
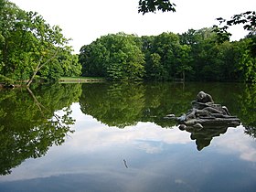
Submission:
<svg viewBox="0 0 256 192">
<path fill-rule="evenodd" d="M 51 27 L 35 12 L 0 0 L 0 79 L 58 80 L 80 75 L 78 56 L 58 26 Z M 0 80 L 2 81 L 2 80 Z"/>
</svg>

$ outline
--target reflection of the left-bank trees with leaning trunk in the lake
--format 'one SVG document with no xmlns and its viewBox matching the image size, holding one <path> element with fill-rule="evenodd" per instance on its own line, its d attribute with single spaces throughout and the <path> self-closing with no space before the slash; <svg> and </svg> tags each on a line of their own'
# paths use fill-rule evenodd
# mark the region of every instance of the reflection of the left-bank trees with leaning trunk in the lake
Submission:
<svg viewBox="0 0 256 192">
<path fill-rule="evenodd" d="M 0 175 L 27 158 L 45 155 L 53 144 L 62 144 L 74 123 L 69 106 L 79 97 L 80 85 L 40 86 L 30 94 L 0 91 Z"/>
</svg>

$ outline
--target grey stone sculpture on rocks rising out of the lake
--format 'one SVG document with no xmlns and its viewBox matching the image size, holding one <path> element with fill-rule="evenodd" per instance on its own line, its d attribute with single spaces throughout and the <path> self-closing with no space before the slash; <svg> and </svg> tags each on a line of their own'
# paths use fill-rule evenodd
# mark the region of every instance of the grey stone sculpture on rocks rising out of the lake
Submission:
<svg viewBox="0 0 256 192">
<path fill-rule="evenodd" d="M 172 114 L 166 117 L 175 118 Z M 197 100 L 192 101 L 192 109 L 187 114 L 177 117 L 176 120 L 181 130 L 187 130 L 189 128 L 202 129 L 205 126 L 212 127 L 213 125 L 216 125 L 216 127 L 219 125 L 240 125 L 239 118 L 231 116 L 227 107 L 215 104 L 212 97 L 204 91 L 198 92 Z"/>
</svg>

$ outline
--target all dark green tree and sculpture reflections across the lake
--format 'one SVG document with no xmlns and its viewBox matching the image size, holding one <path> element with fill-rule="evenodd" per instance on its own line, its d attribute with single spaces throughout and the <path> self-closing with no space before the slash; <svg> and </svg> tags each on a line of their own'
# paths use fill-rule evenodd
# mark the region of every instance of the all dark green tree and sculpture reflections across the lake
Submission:
<svg viewBox="0 0 256 192">
<path fill-rule="evenodd" d="M 31 91 L 0 91 L 0 175 L 27 158 L 45 155 L 53 144 L 63 144 L 72 133 L 69 106 L 80 102 L 80 110 L 108 126 L 125 128 L 140 122 L 172 129 L 191 107 L 198 91 L 237 115 L 245 133 L 256 137 L 256 86 L 238 83 L 93 83 L 40 85 Z M 59 111 L 61 112 L 59 113 Z M 187 130 L 202 150 L 228 127 Z M 125 162 L 124 162 L 125 163 Z"/>
</svg>

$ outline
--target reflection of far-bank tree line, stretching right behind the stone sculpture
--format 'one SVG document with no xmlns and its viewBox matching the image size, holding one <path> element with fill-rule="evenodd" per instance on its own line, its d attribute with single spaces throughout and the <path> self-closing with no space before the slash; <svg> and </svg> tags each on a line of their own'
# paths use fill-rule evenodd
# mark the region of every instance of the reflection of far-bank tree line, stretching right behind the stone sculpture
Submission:
<svg viewBox="0 0 256 192">
<path fill-rule="evenodd" d="M 138 122 L 151 122 L 172 128 L 176 122 L 163 117 L 169 113 L 179 116 L 187 112 L 190 101 L 195 100 L 198 91 L 204 90 L 210 92 L 215 101 L 227 106 L 231 114 L 237 115 L 246 129 L 245 133 L 255 137 L 255 87 L 238 83 L 187 83 L 186 86 L 176 83 L 84 84 L 80 105 L 82 112 L 108 126 L 124 128 Z M 227 128 L 209 127 L 202 131 L 202 135 L 217 136 L 225 133 Z"/>
</svg>

